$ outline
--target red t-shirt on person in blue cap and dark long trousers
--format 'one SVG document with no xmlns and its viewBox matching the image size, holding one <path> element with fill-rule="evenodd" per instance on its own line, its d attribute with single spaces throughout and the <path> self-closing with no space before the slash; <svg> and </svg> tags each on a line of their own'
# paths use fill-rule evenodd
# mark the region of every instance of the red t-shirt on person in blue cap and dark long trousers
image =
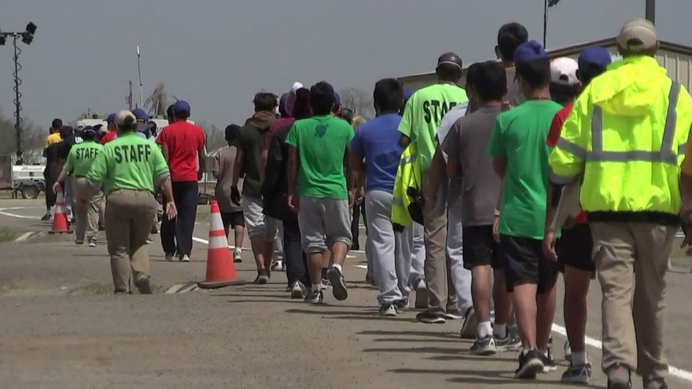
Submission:
<svg viewBox="0 0 692 389">
<path fill-rule="evenodd" d="M 156 143 L 168 148 L 171 181 L 197 181 L 197 151 L 206 144 L 202 128 L 176 121 L 161 131 Z"/>
</svg>

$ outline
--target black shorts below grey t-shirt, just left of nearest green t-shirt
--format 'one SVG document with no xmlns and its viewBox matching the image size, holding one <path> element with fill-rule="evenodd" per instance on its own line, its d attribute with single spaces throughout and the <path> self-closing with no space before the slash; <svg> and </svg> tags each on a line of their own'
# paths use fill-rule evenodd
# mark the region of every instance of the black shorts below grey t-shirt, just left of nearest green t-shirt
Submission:
<svg viewBox="0 0 692 389">
<path fill-rule="evenodd" d="M 492 225 L 462 227 L 462 238 L 465 269 L 488 265 L 502 268 L 497 242 L 492 238 Z"/>
</svg>

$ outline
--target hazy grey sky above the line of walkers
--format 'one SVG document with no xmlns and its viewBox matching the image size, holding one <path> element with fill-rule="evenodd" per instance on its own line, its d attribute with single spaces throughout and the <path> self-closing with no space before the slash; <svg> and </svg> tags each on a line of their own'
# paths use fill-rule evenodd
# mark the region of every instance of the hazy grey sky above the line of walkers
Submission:
<svg viewBox="0 0 692 389">
<path fill-rule="evenodd" d="M 548 48 L 617 35 L 644 0 L 562 0 L 550 8 Z M 692 45 L 692 1 L 659 1 L 659 37 Z M 38 25 L 20 43 L 22 114 L 47 128 L 87 108 L 123 109 L 158 82 L 188 100 L 193 119 L 243 123 L 260 89 L 325 79 L 368 93 L 377 79 L 432 71 L 453 51 L 465 63 L 494 58 L 497 28 L 527 26 L 542 39 L 543 0 L 3 0 L 0 29 Z M 0 47 L 0 112 L 13 113 L 12 46 Z"/>
</svg>

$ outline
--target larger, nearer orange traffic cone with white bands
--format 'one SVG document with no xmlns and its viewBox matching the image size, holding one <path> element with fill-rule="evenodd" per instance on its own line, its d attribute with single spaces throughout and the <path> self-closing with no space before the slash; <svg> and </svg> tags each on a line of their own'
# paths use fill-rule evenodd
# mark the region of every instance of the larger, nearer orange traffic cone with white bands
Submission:
<svg viewBox="0 0 692 389">
<path fill-rule="evenodd" d="M 233 264 L 231 250 L 228 248 L 223 221 L 216 200 L 211 201 L 211 223 L 209 226 L 209 250 L 206 253 L 206 280 L 200 288 L 215 289 L 229 285 L 244 284 L 237 280 L 236 266 Z"/>
</svg>

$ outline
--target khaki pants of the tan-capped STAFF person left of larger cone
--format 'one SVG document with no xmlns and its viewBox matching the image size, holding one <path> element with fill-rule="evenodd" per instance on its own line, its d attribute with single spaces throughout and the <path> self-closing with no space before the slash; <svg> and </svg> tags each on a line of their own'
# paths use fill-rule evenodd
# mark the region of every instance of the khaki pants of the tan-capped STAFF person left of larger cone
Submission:
<svg viewBox="0 0 692 389">
<path fill-rule="evenodd" d="M 106 237 L 116 292 L 130 291 L 131 278 L 135 282 L 149 278 L 146 238 L 154 215 L 156 202 L 151 192 L 115 190 L 108 195 Z"/>
</svg>

